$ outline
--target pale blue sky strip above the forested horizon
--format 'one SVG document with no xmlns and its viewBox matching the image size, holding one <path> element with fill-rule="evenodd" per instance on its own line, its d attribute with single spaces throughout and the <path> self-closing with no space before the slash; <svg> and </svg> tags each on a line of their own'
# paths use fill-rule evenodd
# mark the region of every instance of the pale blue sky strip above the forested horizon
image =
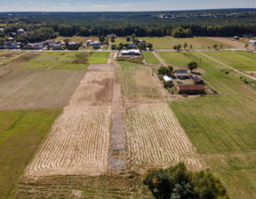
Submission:
<svg viewBox="0 0 256 199">
<path fill-rule="evenodd" d="M 137 12 L 255 6 L 256 0 L 0 0 L 0 12 Z"/>
</svg>

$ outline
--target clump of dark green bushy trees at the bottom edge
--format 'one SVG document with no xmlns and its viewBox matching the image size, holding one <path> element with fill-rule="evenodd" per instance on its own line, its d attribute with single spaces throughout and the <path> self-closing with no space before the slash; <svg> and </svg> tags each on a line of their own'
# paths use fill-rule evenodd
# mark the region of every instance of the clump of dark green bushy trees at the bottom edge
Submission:
<svg viewBox="0 0 256 199">
<path fill-rule="evenodd" d="M 142 181 L 157 199 L 229 198 L 220 179 L 213 176 L 209 170 L 187 171 L 184 163 L 178 163 L 166 170 L 148 170 Z"/>
</svg>

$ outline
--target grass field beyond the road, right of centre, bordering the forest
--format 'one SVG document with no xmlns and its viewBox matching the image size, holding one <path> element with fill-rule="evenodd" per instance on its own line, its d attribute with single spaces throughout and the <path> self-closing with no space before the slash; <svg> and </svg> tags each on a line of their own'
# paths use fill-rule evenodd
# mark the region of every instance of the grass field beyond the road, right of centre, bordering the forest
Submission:
<svg viewBox="0 0 256 199">
<path fill-rule="evenodd" d="M 183 44 L 187 43 L 189 49 L 189 45 L 192 44 L 192 49 L 207 49 L 208 46 L 212 48 L 214 44 L 218 44 L 220 48 L 220 42 L 213 41 L 212 39 L 206 37 L 193 37 L 193 38 L 174 38 L 172 36 L 164 36 L 164 37 L 140 37 L 140 39 L 145 40 L 148 43 L 153 44 L 153 49 L 156 50 L 172 50 L 173 45 L 181 44 L 183 49 Z M 228 44 L 222 44 L 223 49 L 229 48 Z"/>
</svg>

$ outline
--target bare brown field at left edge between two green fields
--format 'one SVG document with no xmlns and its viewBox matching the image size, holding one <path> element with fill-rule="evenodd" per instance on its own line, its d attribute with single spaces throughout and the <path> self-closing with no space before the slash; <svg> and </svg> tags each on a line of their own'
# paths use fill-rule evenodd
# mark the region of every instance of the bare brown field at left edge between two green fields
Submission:
<svg viewBox="0 0 256 199">
<path fill-rule="evenodd" d="M 14 71 L 0 78 L 0 109 L 63 107 L 82 76 L 80 70 Z"/>
</svg>

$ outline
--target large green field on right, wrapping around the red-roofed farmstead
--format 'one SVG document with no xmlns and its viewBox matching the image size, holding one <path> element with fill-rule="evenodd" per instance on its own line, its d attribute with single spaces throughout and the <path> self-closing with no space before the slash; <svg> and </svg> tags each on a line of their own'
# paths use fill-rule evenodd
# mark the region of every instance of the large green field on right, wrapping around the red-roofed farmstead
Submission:
<svg viewBox="0 0 256 199">
<path fill-rule="evenodd" d="M 218 54 L 213 53 L 218 60 Z M 159 55 L 172 65 L 186 66 L 191 60 L 202 60 L 201 67 L 206 71 L 202 77 L 219 94 L 173 101 L 170 106 L 197 152 L 228 187 L 229 195 L 255 198 L 255 90 L 232 73 L 221 72 L 227 68 L 198 52 L 159 52 Z M 236 54 L 231 56 L 235 58 Z M 228 64 L 234 67 L 236 58 Z"/>
</svg>

